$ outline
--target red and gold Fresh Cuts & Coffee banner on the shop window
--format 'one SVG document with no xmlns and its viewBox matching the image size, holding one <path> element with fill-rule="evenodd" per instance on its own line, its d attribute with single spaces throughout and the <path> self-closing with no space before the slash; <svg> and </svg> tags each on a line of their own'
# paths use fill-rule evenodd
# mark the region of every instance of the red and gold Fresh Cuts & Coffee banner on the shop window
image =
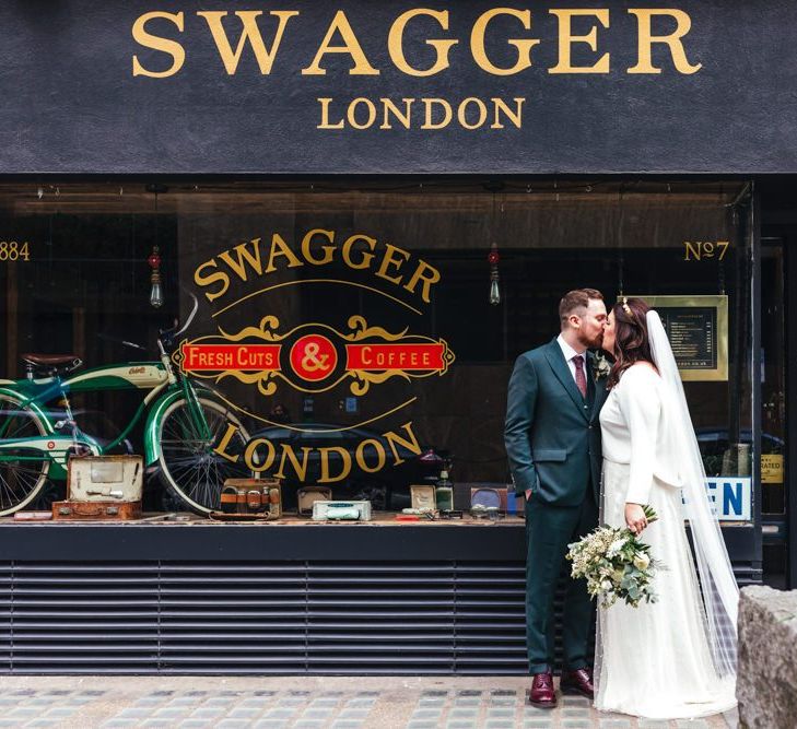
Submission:
<svg viewBox="0 0 797 729">
<path fill-rule="evenodd" d="M 348 320 L 349 331 L 324 324 L 304 324 L 280 333 L 277 317 L 231 334 L 185 340 L 175 364 L 195 377 L 216 381 L 234 377 L 273 395 L 278 383 L 304 392 L 324 392 L 344 380 L 354 395 L 391 377 L 403 379 L 444 375 L 455 360 L 443 339 L 391 333 L 368 326 L 362 316 Z"/>
</svg>

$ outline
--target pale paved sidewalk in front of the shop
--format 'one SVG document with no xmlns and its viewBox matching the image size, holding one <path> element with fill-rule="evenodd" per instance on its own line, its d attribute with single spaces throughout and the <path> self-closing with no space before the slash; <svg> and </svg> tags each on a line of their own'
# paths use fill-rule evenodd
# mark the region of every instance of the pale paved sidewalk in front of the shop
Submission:
<svg viewBox="0 0 797 729">
<path fill-rule="evenodd" d="M 727 729 L 737 714 L 647 721 L 561 696 L 526 702 L 523 678 L 5 677 L 0 727 L 233 729 Z"/>
</svg>

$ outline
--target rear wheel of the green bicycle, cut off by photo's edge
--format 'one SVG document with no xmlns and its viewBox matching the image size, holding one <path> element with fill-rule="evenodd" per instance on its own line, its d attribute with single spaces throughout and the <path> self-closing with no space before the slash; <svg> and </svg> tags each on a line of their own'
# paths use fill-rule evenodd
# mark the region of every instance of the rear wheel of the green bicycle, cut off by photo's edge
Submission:
<svg viewBox="0 0 797 729">
<path fill-rule="evenodd" d="M 46 435 L 47 430 L 39 416 L 20 403 L 17 398 L 0 392 L 2 440 Z M 0 516 L 8 516 L 27 506 L 38 495 L 47 482 L 50 462 L 40 450 L 23 446 L 3 448 L 0 455 Z M 37 460 L 38 457 L 40 460 Z"/>
</svg>

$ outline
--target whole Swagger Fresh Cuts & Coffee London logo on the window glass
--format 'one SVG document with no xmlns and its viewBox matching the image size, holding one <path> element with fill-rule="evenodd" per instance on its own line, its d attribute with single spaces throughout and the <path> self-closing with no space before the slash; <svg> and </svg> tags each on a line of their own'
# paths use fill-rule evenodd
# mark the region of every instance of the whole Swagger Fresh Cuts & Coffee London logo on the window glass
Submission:
<svg viewBox="0 0 797 729">
<path fill-rule="evenodd" d="M 328 321 L 286 326 L 272 314 L 257 316 L 255 313 L 268 310 L 269 301 L 273 304 L 270 296 L 284 296 L 292 287 L 323 284 L 327 291 L 329 286 L 364 290 L 389 302 L 399 311 L 414 315 L 412 319 L 417 320 L 417 316 L 423 315 L 423 307 L 431 303 L 433 287 L 441 280 L 439 271 L 426 261 L 364 233 L 341 236 L 333 230 L 314 228 L 296 244 L 291 246 L 282 235 L 273 233 L 222 251 L 196 268 L 194 281 L 213 306 L 214 318 L 237 313 L 236 320 L 241 320 L 251 313 L 254 321 L 230 331 L 219 326 L 214 333 L 184 340 L 173 357 L 184 373 L 221 386 L 233 379 L 253 388 L 254 398 L 247 402 L 254 402 L 255 407 L 230 399 L 227 403 L 266 425 L 277 425 L 262 413 L 269 411 L 272 398 L 281 389 L 310 397 L 347 390 L 364 398 L 375 388 L 389 391 L 392 381 L 411 383 L 448 372 L 455 355 L 447 342 L 418 333 L 409 326 L 397 331 L 371 322 L 361 314 L 349 316 L 344 327 Z M 332 267 L 340 271 L 341 263 L 343 270 L 359 274 L 358 280 L 354 275 L 352 280 L 324 275 L 325 269 Z M 284 271 L 291 271 L 294 277 L 300 271 L 307 275 L 285 281 L 279 275 Z M 243 286 L 251 283 L 266 285 L 243 293 Z M 366 425 L 373 428 L 375 423 L 378 426 L 379 421 L 400 416 L 415 398 L 379 397 L 378 400 L 387 403 L 386 407 L 372 412 L 366 421 L 341 430 Z M 300 425 L 279 425 L 303 431 Z M 241 457 L 226 450 L 235 435 L 236 427 L 230 424 L 216 447 L 220 455 L 232 460 Z M 402 462 L 401 452 L 421 452 L 411 420 L 379 435 L 363 438 L 353 454 L 336 446 L 319 448 L 319 482 L 345 479 L 352 468 L 352 456 L 361 469 L 376 472 Z M 302 448 L 296 452 L 290 444 L 278 447 L 267 437 L 256 437 L 248 443 L 243 457 L 254 471 L 273 471 L 278 478 L 304 480 L 309 450 Z M 337 472 L 331 469 L 330 456 L 338 457 Z"/>
</svg>

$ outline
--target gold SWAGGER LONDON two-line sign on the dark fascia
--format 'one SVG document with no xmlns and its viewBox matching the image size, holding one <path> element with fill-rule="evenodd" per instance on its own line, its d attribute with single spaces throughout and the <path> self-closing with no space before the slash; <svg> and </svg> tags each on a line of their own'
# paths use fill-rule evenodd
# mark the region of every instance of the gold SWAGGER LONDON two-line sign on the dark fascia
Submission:
<svg viewBox="0 0 797 729">
<path fill-rule="evenodd" d="M 324 91 L 307 101 L 315 104 L 316 129 L 326 132 L 453 127 L 500 133 L 523 129 L 528 105 L 525 96 L 496 95 L 491 79 L 505 90 L 518 77 L 519 90 L 535 73 L 690 75 L 702 68 L 690 44 L 692 19 L 676 8 L 411 8 L 389 17 L 315 3 L 302 11 L 172 10 L 133 21 L 133 78 L 153 83 L 190 73 L 201 57 L 197 49 L 210 47 L 208 60 L 222 77 L 290 79 L 291 93 L 301 93 L 302 79 L 320 81 Z M 635 60 L 618 63 L 617 51 L 633 48 Z M 361 93 L 337 93 L 342 69 L 361 80 L 351 84 Z M 488 82 L 483 94 L 441 95 L 473 70 Z M 378 83 L 383 74 L 430 81 L 425 92 L 399 96 Z"/>
</svg>

